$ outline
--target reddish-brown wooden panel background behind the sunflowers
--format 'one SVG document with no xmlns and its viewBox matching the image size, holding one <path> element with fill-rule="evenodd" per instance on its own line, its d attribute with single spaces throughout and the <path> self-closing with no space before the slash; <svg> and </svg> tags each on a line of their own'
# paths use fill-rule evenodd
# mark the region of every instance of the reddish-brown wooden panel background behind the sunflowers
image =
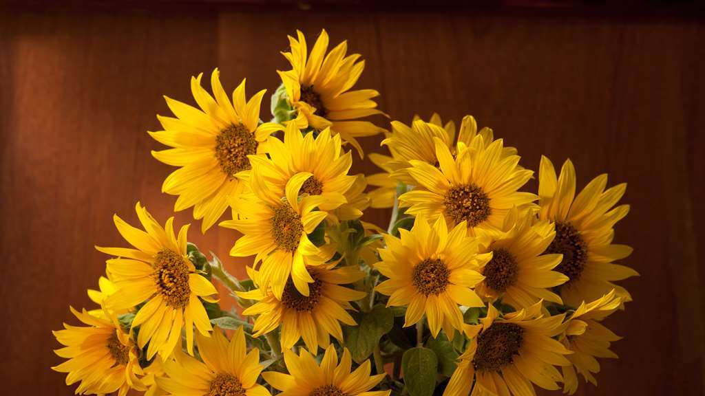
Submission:
<svg viewBox="0 0 705 396">
<path fill-rule="evenodd" d="M 642 276 L 623 283 L 635 301 L 608 319 L 625 338 L 613 348 L 620 359 L 603 361 L 599 388 L 579 395 L 704 394 L 701 14 L 135 7 L 0 8 L 3 394 L 73 393 L 49 369 L 60 361 L 51 330 L 74 322 L 69 304 L 90 307 L 85 289 L 106 259 L 93 245 L 123 244 L 111 216 L 136 221 L 138 199 L 161 221 L 171 214 L 175 199 L 160 193 L 171 168 L 149 155 L 159 144 L 145 132 L 168 113 L 161 95 L 192 102 L 190 76 L 216 66 L 228 89 L 247 77 L 250 94 L 273 90 L 286 35 L 321 27 L 364 56 L 358 87 L 379 89 L 393 118 L 472 113 L 529 168 L 541 154 L 570 157 L 581 185 L 603 172 L 628 182 L 632 211 L 616 241 L 635 247 L 625 264 Z M 177 221 L 193 223 L 188 212 Z M 228 257 L 234 238 L 190 233 L 242 273 L 245 261 Z"/>
</svg>

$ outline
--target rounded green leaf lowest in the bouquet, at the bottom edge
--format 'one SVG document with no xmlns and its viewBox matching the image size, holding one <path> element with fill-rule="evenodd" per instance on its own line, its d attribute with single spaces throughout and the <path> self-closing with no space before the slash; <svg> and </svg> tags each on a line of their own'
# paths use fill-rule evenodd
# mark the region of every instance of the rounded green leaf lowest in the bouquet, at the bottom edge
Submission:
<svg viewBox="0 0 705 396">
<path fill-rule="evenodd" d="M 404 383 L 411 396 L 431 396 L 436 388 L 438 359 L 434 351 L 424 347 L 415 347 L 404 352 L 401 369 Z"/>
</svg>

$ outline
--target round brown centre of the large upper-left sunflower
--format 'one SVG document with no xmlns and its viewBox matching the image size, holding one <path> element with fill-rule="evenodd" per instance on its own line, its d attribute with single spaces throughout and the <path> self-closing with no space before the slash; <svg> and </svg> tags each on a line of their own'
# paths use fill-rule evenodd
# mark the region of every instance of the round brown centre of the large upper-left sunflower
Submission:
<svg viewBox="0 0 705 396">
<path fill-rule="evenodd" d="M 221 170 L 231 178 L 240 171 L 250 169 L 247 156 L 257 152 L 257 140 L 245 125 L 230 125 L 216 137 L 216 159 Z"/>
</svg>

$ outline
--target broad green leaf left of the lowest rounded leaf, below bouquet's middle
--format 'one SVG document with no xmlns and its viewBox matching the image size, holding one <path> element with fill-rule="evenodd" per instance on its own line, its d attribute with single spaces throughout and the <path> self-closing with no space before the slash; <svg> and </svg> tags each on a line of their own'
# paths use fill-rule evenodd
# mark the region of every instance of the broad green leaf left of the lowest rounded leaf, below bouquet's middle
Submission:
<svg viewBox="0 0 705 396">
<path fill-rule="evenodd" d="M 345 326 L 343 335 L 353 360 L 361 364 L 372 354 L 382 335 L 391 330 L 394 314 L 384 305 L 375 305 L 371 311 L 364 312 L 357 323 L 359 326 Z"/>
</svg>

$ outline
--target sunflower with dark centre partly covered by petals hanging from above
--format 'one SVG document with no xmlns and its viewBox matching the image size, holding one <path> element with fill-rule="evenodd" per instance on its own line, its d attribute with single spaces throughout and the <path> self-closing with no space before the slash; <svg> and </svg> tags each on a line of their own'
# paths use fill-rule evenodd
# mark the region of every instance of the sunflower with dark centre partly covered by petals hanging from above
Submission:
<svg viewBox="0 0 705 396">
<path fill-rule="evenodd" d="M 333 265 L 309 268 L 314 282 L 309 285 L 307 296 L 301 295 L 291 280 L 287 281 L 281 299 L 263 288 L 238 292 L 241 298 L 257 300 L 243 311 L 244 315 L 258 315 L 254 336 L 269 333 L 281 324 L 282 349 L 290 349 L 300 338 L 314 353 L 319 345 L 324 348 L 330 345 L 330 335 L 342 343 L 343 330 L 339 322 L 357 326 L 345 309 L 353 309 L 349 302 L 362 299 L 367 293 L 341 286 L 364 278 L 358 266 L 331 269 Z M 255 284 L 259 283 L 257 272 L 248 272 Z"/>
</svg>

